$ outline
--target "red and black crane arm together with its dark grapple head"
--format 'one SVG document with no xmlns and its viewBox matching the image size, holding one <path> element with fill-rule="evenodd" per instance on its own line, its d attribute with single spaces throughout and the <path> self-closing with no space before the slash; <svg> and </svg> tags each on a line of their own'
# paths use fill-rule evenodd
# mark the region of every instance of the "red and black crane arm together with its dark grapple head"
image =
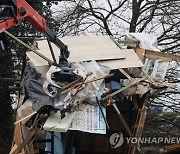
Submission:
<svg viewBox="0 0 180 154">
<path fill-rule="evenodd" d="M 45 19 L 25 0 L 0 1 L 0 32 L 18 25 L 22 19 L 30 22 L 37 31 L 44 33 L 47 39 L 60 49 L 60 71 L 54 73 L 53 79 L 56 82 L 72 82 L 76 80 L 78 76 L 70 68 L 67 60 L 70 54 L 67 45 L 57 38 L 57 35 L 47 26 Z"/>
</svg>

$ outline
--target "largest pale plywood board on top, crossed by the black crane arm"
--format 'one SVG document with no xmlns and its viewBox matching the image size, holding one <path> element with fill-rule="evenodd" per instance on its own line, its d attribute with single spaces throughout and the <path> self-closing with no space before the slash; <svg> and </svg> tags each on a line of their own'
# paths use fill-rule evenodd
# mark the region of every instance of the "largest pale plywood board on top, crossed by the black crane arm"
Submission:
<svg viewBox="0 0 180 154">
<path fill-rule="evenodd" d="M 60 38 L 71 52 L 69 61 L 101 60 L 108 58 L 123 58 L 118 54 L 119 48 L 114 44 L 109 36 L 74 36 Z M 41 53 L 48 53 L 47 41 L 38 41 Z M 59 57 L 59 48 L 52 43 L 56 60 Z M 48 55 L 49 55 L 48 54 Z M 51 56 L 48 56 L 49 58 Z"/>
</svg>

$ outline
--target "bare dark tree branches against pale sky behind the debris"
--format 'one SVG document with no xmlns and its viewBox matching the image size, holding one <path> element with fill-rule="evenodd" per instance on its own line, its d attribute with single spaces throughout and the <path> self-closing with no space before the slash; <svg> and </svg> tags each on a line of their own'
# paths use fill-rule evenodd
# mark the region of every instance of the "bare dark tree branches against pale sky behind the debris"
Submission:
<svg viewBox="0 0 180 154">
<path fill-rule="evenodd" d="M 179 7 L 180 0 L 73 0 L 60 5 L 54 16 L 61 25 L 61 36 L 87 31 L 120 39 L 128 32 L 146 32 L 158 37 L 162 52 L 178 54 Z M 179 83 L 178 68 L 179 63 L 171 67 L 166 77 L 168 82 Z M 176 90 L 161 90 L 152 102 L 180 111 L 178 87 Z M 169 102 L 164 103 L 164 98 Z"/>
</svg>

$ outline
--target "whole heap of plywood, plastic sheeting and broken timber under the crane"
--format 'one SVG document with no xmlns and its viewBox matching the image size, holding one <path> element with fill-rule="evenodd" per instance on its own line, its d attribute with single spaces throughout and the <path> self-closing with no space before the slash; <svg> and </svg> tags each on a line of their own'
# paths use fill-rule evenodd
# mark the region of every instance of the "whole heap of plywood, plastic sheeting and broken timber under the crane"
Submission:
<svg viewBox="0 0 180 154">
<path fill-rule="evenodd" d="M 67 153 L 67 146 L 81 149 L 81 145 L 68 144 L 69 132 L 106 135 L 114 129 L 110 124 L 113 119 L 107 114 L 109 108 L 116 113 L 118 125 L 123 128 L 120 131 L 130 137 L 141 137 L 147 98 L 158 87 L 175 88 L 164 78 L 169 62 L 180 58 L 142 48 L 120 49 L 109 36 L 62 40 L 71 52 L 70 70 L 58 67 L 59 51 L 53 46 L 51 55 L 45 40 L 38 41 L 37 51 L 55 65 L 27 52 L 11 154 Z M 128 108 L 123 108 L 124 105 Z M 131 122 L 124 116 L 124 110 L 135 113 Z M 128 146 L 129 154 L 139 147 Z"/>
</svg>

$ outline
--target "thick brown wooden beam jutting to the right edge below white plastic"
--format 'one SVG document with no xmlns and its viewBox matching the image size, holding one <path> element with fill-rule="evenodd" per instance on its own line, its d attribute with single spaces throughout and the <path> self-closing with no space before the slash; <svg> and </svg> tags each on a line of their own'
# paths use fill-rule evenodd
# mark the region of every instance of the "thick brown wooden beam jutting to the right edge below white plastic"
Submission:
<svg viewBox="0 0 180 154">
<path fill-rule="evenodd" d="M 157 51 L 146 50 L 145 57 L 152 59 L 160 59 L 163 61 L 178 61 L 180 62 L 180 56 L 173 55 L 171 53 L 163 53 Z"/>
</svg>

